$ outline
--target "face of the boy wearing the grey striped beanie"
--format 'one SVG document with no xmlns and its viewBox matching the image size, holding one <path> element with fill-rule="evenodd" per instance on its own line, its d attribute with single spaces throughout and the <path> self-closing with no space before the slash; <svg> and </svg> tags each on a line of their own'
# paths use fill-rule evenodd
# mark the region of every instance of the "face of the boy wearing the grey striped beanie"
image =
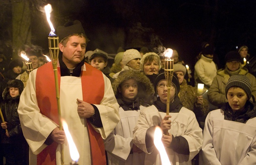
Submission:
<svg viewBox="0 0 256 165">
<path fill-rule="evenodd" d="M 243 110 L 247 101 L 247 94 L 239 87 L 231 87 L 227 93 L 228 104 L 233 111 Z"/>
</svg>

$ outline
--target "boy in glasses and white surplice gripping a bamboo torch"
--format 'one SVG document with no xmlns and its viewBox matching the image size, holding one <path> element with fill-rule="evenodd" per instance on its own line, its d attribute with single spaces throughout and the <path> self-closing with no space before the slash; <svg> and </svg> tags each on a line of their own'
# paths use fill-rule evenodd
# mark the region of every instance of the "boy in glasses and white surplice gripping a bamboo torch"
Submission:
<svg viewBox="0 0 256 165">
<path fill-rule="evenodd" d="M 165 151 L 172 164 L 191 165 L 191 160 L 202 147 L 202 129 L 195 114 L 182 106 L 178 93 L 180 84 L 177 75 L 173 74 L 170 87 L 169 115 L 166 115 L 167 82 L 165 73 L 157 76 L 155 92 L 157 100 L 150 107 L 143 109 L 133 130 L 133 143 L 143 150 L 145 165 L 161 165 L 160 154 L 154 146 L 154 130 L 160 126 L 167 135 L 162 136 Z"/>
</svg>

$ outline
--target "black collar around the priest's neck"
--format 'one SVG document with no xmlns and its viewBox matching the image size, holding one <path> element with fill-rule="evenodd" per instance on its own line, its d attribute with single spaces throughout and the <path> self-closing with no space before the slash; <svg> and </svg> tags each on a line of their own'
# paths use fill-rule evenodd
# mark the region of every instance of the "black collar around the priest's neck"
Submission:
<svg viewBox="0 0 256 165">
<path fill-rule="evenodd" d="M 81 67 L 84 64 L 85 58 L 78 63 L 78 65 L 74 68 L 73 73 L 69 72 L 69 69 L 67 68 L 66 64 L 62 61 L 62 54 L 59 54 L 59 66 L 60 66 L 60 73 L 61 76 L 75 76 L 80 77 L 81 74 Z"/>
</svg>

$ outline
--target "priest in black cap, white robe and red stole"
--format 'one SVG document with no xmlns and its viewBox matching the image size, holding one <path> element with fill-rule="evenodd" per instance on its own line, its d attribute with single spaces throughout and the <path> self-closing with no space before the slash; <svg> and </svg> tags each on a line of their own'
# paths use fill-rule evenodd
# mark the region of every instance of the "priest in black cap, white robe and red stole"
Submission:
<svg viewBox="0 0 256 165">
<path fill-rule="evenodd" d="M 89 40 L 80 21 L 68 22 L 57 31 L 61 118 L 67 122 L 80 154 L 77 163 L 106 164 L 103 139 L 120 120 L 111 83 L 101 71 L 84 62 Z M 60 164 L 60 144 L 64 145 L 64 163 L 72 161 L 65 132 L 59 130 L 55 89 L 52 63 L 48 62 L 30 73 L 20 97 L 18 112 L 33 165 Z"/>
</svg>

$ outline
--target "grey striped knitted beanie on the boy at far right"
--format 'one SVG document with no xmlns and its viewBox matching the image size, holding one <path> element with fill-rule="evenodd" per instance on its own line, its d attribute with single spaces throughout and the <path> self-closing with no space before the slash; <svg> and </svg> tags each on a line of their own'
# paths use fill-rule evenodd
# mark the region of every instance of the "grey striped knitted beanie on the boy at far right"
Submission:
<svg viewBox="0 0 256 165">
<path fill-rule="evenodd" d="M 241 89 L 243 89 L 247 94 L 248 100 L 252 96 L 250 79 L 245 75 L 237 74 L 234 76 L 230 76 L 225 89 L 226 98 L 227 98 L 228 89 L 230 89 L 231 87 L 240 87 Z"/>
</svg>

